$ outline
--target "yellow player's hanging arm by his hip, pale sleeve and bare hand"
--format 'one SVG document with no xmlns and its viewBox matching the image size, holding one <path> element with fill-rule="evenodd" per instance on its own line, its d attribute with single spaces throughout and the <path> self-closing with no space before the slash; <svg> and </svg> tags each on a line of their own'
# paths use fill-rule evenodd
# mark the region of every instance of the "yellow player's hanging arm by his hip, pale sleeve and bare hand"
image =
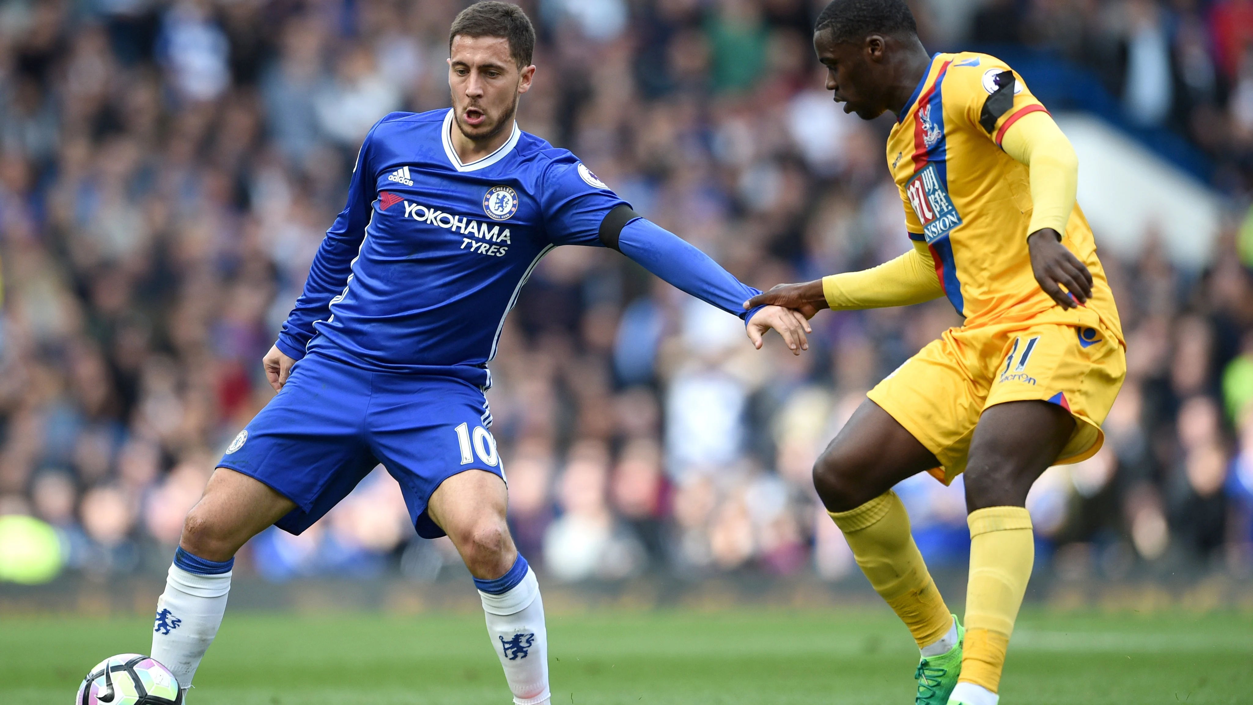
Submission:
<svg viewBox="0 0 1253 705">
<path fill-rule="evenodd" d="M 1035 280 L 1061 308 L 1081 306 L 1093 296 L 1093 275 L 1061 244 L 1079 185 L 1079 158 L 1070 140 L 1040 110 L 1010 125 L 1001 148 L 1030 169 L 1032 210 L 1026 242 Z"/>
</svg>

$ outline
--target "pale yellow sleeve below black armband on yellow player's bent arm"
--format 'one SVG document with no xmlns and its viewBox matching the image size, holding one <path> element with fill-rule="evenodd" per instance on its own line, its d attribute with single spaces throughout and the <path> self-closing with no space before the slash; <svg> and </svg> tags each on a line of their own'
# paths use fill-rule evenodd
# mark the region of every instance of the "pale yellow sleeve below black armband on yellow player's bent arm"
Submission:
<svg viewBox="0 0 1253 705">
<path fill-rule="evenodd" d="M 1079 158 L 1061 128 L 1048 113 L 1030 113 L 1005 130 L 1001 148 L 1030 169 L 1032 210 L 1024 237 L 1041 228 L 1064 235 L 1075 209 Z"/>
</svg>

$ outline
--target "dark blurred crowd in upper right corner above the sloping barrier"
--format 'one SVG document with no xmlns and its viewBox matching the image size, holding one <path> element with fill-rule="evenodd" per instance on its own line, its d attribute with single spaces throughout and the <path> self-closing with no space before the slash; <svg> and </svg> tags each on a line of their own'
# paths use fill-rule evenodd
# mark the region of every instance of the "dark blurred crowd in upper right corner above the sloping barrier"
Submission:
<svg viewBox="0 0 1253 705">
<path fill-rule="evenodd" d="M 1164 128 L 1253 188 L 1253 4 L 1247 0 L 925 0 L 944 46 L 1020 45 L 1091 71 L 1136 128 Z M 1245 247 L 1249 247 L 1245 244 Z M 1253 249 L 1248 250 L 1253 252 Z"/>
</svg>

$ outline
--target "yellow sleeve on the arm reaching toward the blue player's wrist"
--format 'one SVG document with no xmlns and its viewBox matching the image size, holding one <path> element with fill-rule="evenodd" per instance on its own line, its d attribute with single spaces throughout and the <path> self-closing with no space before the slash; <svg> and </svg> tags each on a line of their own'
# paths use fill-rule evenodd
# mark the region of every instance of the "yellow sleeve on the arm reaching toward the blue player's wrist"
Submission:
<svg viewBox="0 0 1253 705">
<path fill-rule="evenodd" d="M 910 306 L 944 294 L 931 252 L 923 243 L 901 257 L 861 272 L 822 278 L 822 294 L 834 311 Z"/>
</svg>

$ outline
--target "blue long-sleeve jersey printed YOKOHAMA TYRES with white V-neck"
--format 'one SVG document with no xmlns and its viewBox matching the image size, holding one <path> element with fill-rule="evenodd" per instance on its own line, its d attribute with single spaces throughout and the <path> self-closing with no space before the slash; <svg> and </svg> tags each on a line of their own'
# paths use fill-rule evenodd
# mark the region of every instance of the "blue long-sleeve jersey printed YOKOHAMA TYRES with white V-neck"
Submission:
<svg viewBox="0 0 1253 705">
<path fill-rule="evenodd" d="M 505 316 L 540 258 L 561 244 L 603 245 L 601 222 L 625 203 L 570 152 L 515 124 L 500 149 L 462 164 L 451 129 L 451 110 L 392 113 L 366 135 L 348 203 L 278 336 L 283 353 L 487 387 Z M 642 218 L 616 244 L 742 318 L 742 302 L 759 293 Z"/>
</svg>

